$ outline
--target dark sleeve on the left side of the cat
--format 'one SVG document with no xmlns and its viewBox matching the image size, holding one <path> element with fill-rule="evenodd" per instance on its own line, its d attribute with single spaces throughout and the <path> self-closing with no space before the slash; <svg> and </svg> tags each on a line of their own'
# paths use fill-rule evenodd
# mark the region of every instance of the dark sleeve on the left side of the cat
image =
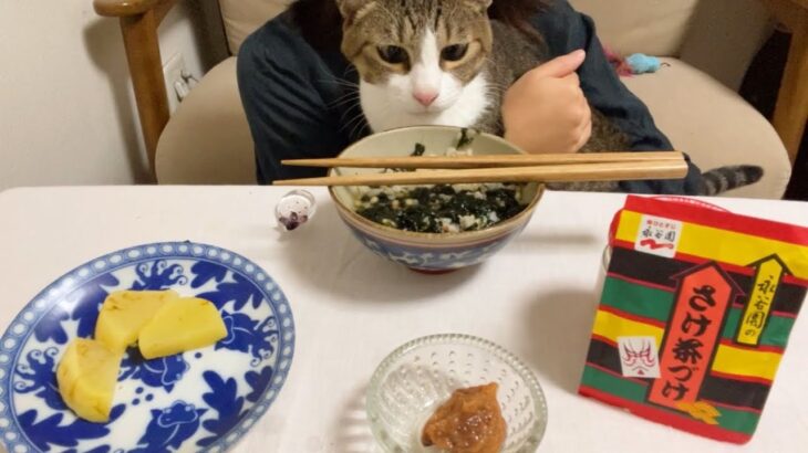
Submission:
<svg viewBox="0 0 808 453">
<path fill-rule="evenodd" d="M 279 17 L 251 34 L 238 55 L 238 86 L 255 144 L 257 180 L 322 176 L 282 159 L 336 156 L 349 137 L 334 110 L 343 83 Z"/>
</svg>

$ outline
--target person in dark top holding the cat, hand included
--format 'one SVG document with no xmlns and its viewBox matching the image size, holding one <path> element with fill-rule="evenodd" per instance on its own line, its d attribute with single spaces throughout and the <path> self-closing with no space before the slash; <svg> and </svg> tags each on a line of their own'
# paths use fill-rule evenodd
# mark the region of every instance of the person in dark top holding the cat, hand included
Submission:
<svg viewBox="0 0 808 453">
<path fill-rule="evenodd" d="M 466 3 L 470 8 L 480 1 Z M 241 46 L 238 83 L 259 183 L 321 176 L 321 169 L 280 161 L 333 157 L 372 131 L 360 105 L 359 74 L 340 49 L 343 17 L 338 3 L 360 11 L 375 2 L 299 0 Z M 612 70 L 590 18 L 566 0 L 494 0 L 488 14 L 526 34 L 538 33 L 537 45 L 543 41 L 550 54 L 503 96 L 506 139 L 529 152 L 577 152 L 591 135 L 591 106 L 628 136 L 631 150 L 673 149 L 648 107 Z M 688 166 L 682 180 L 622 181 L 619 189 L 697 194 L 702 175 L 690 159 Z"/>
</svg>

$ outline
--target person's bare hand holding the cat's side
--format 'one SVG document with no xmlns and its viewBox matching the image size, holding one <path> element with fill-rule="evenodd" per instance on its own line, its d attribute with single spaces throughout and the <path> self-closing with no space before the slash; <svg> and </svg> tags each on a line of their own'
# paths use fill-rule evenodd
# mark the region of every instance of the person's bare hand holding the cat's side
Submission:
<svg viewBox="0 0 808 453">
<path fill-rule="evenodd" d="M 527 152 L 577 152 L 592 135 L 592 112 L 576 70 L 583 51 L 530 70 L 505 93 L 505 139 Z"/>
</svg>

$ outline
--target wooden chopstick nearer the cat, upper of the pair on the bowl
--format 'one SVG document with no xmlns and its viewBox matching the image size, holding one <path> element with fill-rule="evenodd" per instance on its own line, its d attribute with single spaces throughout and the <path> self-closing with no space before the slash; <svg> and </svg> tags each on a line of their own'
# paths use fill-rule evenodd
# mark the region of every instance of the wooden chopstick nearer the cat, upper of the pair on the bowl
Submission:
<svg viewBox="0 0 808 453">
<path fill-rule="evenodd" d="M 558 164 L 638 162 L 681 160 L 682 152 L 587 152 L 546 155 L 423 156 L 423 157 L 342 157 L 328 159 L 292 159 L 281 164 L 294 167 L 346 168 L 501 168 Z"/>
</svg>

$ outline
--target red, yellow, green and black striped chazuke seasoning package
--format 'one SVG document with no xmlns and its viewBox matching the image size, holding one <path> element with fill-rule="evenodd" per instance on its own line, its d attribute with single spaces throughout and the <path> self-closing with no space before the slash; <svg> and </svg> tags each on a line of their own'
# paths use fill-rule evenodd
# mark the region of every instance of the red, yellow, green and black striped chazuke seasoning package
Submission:
<svg viewBox="0 0 808 453">
<path fill-rule="evenodd" d="M 763 414 L 808 288 L 808 229 L 629 197 L 579 393 L 733 443 Z"/>
</svg>

